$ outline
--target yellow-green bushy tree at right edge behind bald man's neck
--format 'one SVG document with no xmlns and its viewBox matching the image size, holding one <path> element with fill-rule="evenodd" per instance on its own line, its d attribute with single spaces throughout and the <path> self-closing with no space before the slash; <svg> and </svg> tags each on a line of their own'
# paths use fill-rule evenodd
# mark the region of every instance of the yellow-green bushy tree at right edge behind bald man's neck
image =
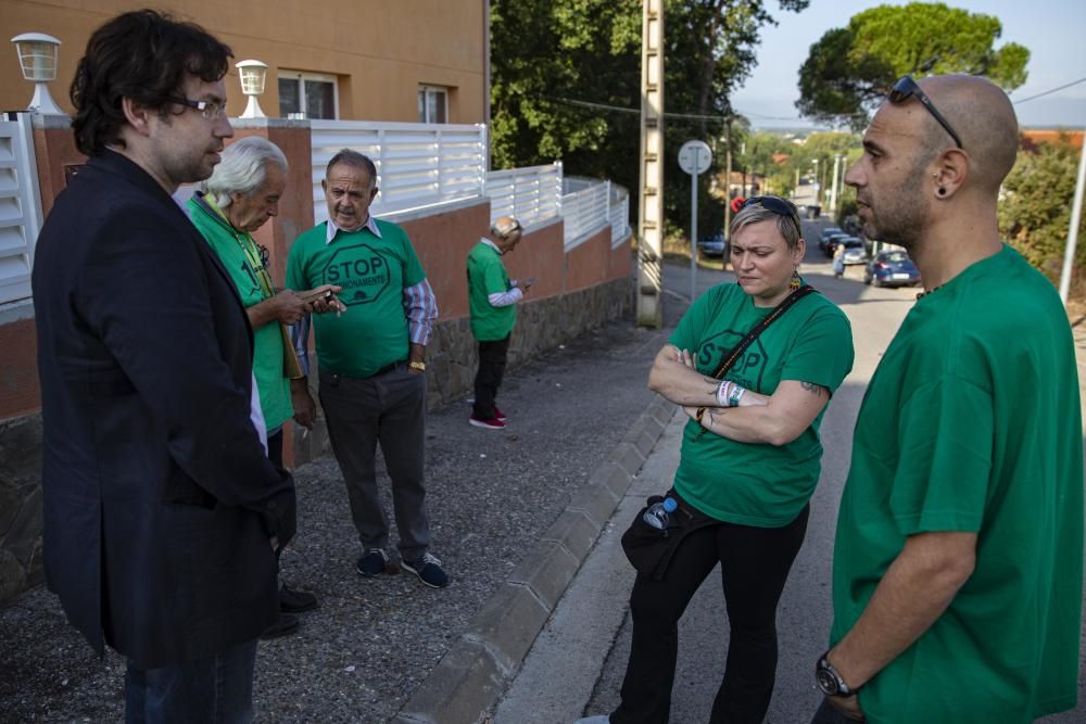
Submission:
<svg viewBox="0 0 1086 724">
<path fill-rule="evenodd" d="M 1062 141 L 1040 143 L 1035 151 L 1019 153 L 1003 181 L 999 202 L 999 232 L 1003 239 L 1053 282 L 1059 281 L 1063 266 L 1078 172 L 1078 149 L 1065 137 Z M 1086 263 L 1086 217 L 1078 240 L 1076 278 Z M 1077 285 L 1081 290 L 1081 280 Z"/>
</svg>

